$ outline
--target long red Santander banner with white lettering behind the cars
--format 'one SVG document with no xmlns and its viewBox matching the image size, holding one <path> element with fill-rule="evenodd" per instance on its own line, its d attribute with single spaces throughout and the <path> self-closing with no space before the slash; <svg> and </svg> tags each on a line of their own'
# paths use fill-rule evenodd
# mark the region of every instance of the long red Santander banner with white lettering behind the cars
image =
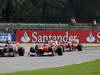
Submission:
<svg viewBox="0 0 100 75">
<path fill-rule="evenodd" d="M 45 40 L 67 42 L 75 37 L 80 43 L 100 43 L 100 30 L 17 30 L 16 39 L 20 43 L 43 43 Z"/>
</svg>

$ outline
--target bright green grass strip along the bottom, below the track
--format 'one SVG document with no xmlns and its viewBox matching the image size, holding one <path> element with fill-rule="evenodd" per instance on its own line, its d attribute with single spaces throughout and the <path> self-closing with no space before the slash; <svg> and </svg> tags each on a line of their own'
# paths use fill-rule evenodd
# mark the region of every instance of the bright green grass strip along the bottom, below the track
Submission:
<svg viewBox="0 0 100 75">
<path fill-rule="evenodd" d="M 100 60 L 57 68 L 22 71 L 0 75 L 100 75 Z"/>
</svg>

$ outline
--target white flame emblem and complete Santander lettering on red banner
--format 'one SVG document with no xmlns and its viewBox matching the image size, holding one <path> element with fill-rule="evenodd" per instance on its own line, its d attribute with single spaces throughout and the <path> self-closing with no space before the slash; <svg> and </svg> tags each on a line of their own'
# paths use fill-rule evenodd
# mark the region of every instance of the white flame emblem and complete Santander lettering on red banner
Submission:
<svg viewBox="0 0 100 75">
<path fill-rule="evenodd" d="M 41 32 L 24 32 L 23 36 L 21 36 L 20 40 L 21 42 L 25 42 L 25 43 L 28 43 L 28 42 L 33 42 L 33 43 L 43 43 L 45 42 L 46 40 L 58 40 L 59 42 L 67 42 L 68 39 L 72 40 L 73 38 L 76 37 L 75 36 L 69 36 L 69 32 L 66 31 L 66 32 L 62 32 L 62 33 L 59 33 L 59 34 L 53 34 L 53 33 L 42 33 L 40 34 Z M 31 35 L 31 36 L 28 36 L 28 35 Z"/>
</svg>

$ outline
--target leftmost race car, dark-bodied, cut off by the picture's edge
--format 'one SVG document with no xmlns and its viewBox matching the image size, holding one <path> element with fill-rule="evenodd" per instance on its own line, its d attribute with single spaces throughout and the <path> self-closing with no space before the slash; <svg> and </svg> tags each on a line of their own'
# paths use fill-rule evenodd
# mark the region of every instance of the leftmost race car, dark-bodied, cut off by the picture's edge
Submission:
<svg viewBox="0 0 100 75">
<path fill-rule="evenodd" d="M 0 56 L 1 57 L 6 57 L 6 56 L 14 57 L 17 54 L 19 56 L 23 56 L 24 52 L 25 50 L 23 47 L 12 47 L 11 45 L 0 46 Z"/>
</svg>

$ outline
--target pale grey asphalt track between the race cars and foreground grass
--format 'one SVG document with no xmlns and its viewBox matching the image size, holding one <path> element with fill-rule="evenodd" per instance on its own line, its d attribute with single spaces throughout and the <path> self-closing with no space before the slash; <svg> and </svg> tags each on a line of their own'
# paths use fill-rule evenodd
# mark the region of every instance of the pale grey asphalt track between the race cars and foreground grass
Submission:
<svg viewBox="0 0 100 75">
<path fill-rule="evenodd" d="M 0 57 L 0 73 L 59 67 L 95 59 L 100 59 L 100 48 L 85 48 L 81 52 L 66 52 L 63 56 Z"/>
</svg>

